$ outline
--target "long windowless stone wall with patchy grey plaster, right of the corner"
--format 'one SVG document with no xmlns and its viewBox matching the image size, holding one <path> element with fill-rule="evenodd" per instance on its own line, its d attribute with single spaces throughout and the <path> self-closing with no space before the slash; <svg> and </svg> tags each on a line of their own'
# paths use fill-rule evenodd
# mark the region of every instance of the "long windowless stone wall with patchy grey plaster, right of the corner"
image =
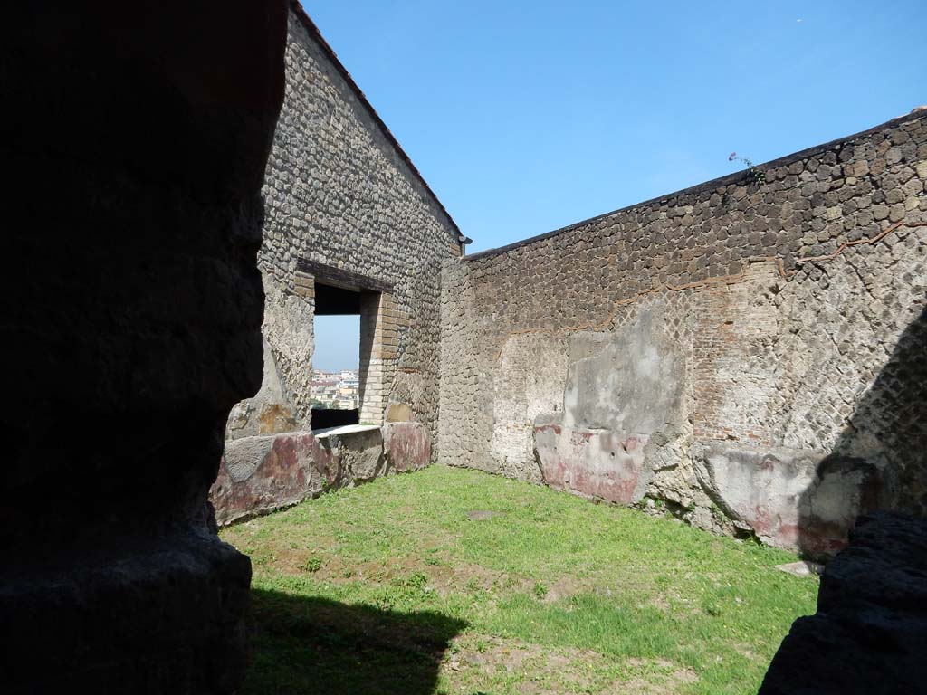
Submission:
<svg viewBox="0 0 927 695">
<path fill-rule="evenodd" d="M 440 461 L 827 554 L 927 511 L 927 114 L 465 259 Z"/>
</svg>

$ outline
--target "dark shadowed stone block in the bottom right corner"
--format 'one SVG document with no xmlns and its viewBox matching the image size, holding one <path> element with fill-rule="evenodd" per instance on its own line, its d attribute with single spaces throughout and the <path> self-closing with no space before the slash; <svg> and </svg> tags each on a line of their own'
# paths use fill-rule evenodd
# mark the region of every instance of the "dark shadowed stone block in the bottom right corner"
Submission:
<svg viewBox="0 0 927 695">
<path fill-rule="evenodd" d="M 927 520 L 864 516 L 821 577 L 818 613 L 798 618 L 760 695 L 924 692 Z"/>
</svg>

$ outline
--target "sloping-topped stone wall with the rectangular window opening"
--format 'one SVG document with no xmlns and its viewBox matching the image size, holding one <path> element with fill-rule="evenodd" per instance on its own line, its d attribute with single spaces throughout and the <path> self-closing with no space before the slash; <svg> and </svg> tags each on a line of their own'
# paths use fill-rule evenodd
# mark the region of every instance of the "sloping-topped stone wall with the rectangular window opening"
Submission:
<svg viewBox="0 0 927 695">
<path fill-rule="evenodd" d="M 239 442 L 304 441 L 317 428 L 310 382 L 318 282 L 362 291 L 361 423 L 408 423 L 400 429 L 415 430 L 416 442 L 426 437 L 430 459 L 438 434 L 440 268 L 461 252 L 456 225 L 298 3 L 289 11 L 286 97 L 262 192 L 264 379 L 258 396 L 229 418 L 225 466 L 256 477 L 230 476 L 213 495 L 217 508 L 230 494 L 240 500 L 232 515 L 249 497 L 265 500 L 258 512 L 322 489 L 297 474 L 303 459 L 280 469 L 276 459 L 265 463 L 271 449 L 261 441 Z M 317 464 L 328 465 L 324 458 Z M 276 502 L 261 482 L 265 465 L 281 486 Z"/>
</svg>

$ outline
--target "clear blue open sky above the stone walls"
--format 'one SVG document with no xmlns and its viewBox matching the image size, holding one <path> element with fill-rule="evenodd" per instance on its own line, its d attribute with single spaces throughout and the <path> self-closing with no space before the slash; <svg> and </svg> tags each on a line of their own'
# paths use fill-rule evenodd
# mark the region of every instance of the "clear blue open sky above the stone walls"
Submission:
<svg viewBox="0 0 927 695">
<path fill-rule="evenodd" d="M 470 252 L 927 104 L 925 0 L 303 5 Z"/>
</svg>

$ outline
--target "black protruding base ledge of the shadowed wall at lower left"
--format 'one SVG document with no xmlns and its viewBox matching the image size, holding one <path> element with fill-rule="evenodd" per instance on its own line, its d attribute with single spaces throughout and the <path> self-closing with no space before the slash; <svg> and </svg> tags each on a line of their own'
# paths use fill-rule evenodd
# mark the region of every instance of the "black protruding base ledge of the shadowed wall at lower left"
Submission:
<svg viewBox="0 0 927 695">
<path fill-rule="evenodd" d="M 84 562 L 4 577 L 5 693 L 235 692 L 248 557 L 185 533 L 124 550 L 103 540 Z"/>
</svg>

